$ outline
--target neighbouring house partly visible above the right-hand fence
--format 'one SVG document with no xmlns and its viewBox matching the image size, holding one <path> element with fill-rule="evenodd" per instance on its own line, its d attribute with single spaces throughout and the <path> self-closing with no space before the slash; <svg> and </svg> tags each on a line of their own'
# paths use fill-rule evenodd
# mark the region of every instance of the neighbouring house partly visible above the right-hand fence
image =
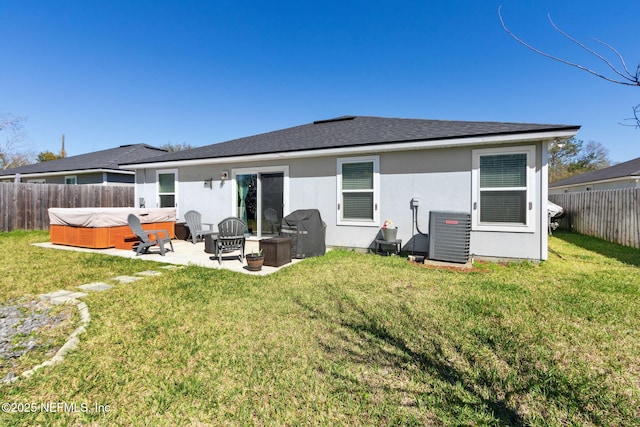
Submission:
<svg viewBox="0 0 640 427">
<path fill-rule="evenodd" d="M 640 188 L 640 157 L 549 184 L 549 194 Z"/>
</svg>

